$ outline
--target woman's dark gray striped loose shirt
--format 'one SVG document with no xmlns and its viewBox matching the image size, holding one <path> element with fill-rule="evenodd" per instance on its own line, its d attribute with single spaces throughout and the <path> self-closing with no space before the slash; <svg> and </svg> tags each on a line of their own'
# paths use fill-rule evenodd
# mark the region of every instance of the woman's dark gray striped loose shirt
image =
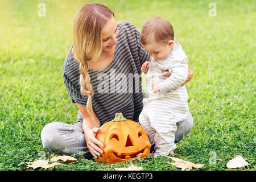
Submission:
<svg viewBox="0 0 256 182">
<path fill-rule="evenodd" d="M 112 63 L 101 71 L 88 69 L 94 91 L 92 105 L 101 125 L 115 113 L 138 122 L 145 94 L 141 85 L 141 65 L 150 58 L 139 41 L 139 30 L 130 22 L 117 22 L 119 35 Z M 63 80 L 73 103 L 86 106 L 88 96 L 80 92 L 80 63 L 68 52 L 63 64 Z M 79 111 L 77 121 L 82 122 Z"/>
</svg>

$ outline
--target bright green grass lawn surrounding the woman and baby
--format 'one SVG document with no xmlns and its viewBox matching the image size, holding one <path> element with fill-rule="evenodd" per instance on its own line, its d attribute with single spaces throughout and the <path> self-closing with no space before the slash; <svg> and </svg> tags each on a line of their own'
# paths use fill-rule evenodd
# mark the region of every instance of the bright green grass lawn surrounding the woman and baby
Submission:
<svg viewBox="0 0 256 182">
<path fill-rule="evenodd" d="M 0 1 L 0 170 L 29 170 L 24 162 L 42 156 L 40 132 L 47 123 L 74 123 L 77 107 L 63 84 L 62 66 L 72 45 L 76 11 L 86 2 Z M 177 144 L 175 157 L 205 164 L 201 170 L 255 170 L 255 2 L 96 1 L 141 29 L 144 20 L 163 16 L 175 30 L 194 71 L 187 84 L 194 126 Z M 144 84 L 144 82 L 143 82 Z M 229 161 L 237 155 L 251 165 L 228 169 L 209 154 Z M 137 160 L 144 170 L 180 170 L 167 158 Z M 130 164 L 97 164 L 79 158 L 48 170 L 114 170 Z M 42 170 L 42 169 L 36 169 Z"/>
</svg>

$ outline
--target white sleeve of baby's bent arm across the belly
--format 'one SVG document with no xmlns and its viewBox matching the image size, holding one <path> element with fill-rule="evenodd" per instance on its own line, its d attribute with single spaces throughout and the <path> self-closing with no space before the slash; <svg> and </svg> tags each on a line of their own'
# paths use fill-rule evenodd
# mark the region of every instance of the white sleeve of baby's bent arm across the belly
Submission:
<svg viewBox="0 0 256 182">
<path fill-rule="evenodd" d="M 171 76 L 166 78 L 166 80 L 159 82 L 158 84 L 160 92 L 168 92 L 170 90 L 177 89 L 187 80 L 188 64 L 184 64 L 183 60 L 173 61 L 172 66 L 170 69 L 168 69 L 168 71 L 171 73 Z"/>
</svg>

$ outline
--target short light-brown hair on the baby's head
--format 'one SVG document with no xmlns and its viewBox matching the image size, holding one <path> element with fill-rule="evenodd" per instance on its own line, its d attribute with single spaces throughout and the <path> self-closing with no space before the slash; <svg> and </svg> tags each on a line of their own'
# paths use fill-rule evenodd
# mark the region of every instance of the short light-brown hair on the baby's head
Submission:
<svg viewBox="0 0 256 182">
<path fill-rule="evenodd" d="M 143 23 L 139 39 L 146 45 L 148 36 L 154 33 L 156 42 L 167 43 L 174 40 L 174 28 L 168 20 L 161 17 L 152 17 Z"/>
</svg>

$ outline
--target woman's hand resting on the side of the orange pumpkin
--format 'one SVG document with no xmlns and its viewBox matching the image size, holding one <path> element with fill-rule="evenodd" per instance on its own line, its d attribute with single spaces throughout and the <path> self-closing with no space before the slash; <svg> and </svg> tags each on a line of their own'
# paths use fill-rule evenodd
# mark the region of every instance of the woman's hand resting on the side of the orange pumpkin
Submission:
<svg viewBox="0 0 256 182">
<path fill-rule="evenodd" d="M 97 156 L 100 156 L 103 153 L 101 148 L 103 148 L 104 145 L 99 140 L 96 139 L 96 135 L 99 131 L 100 128 L 94 127 L 92 130 L 86 131 L 84 133 L 84 138 L 86 140 L 87 147 L 90 153 L 94 156 L 94 158 L 97 158 Z"/>
</svg>

